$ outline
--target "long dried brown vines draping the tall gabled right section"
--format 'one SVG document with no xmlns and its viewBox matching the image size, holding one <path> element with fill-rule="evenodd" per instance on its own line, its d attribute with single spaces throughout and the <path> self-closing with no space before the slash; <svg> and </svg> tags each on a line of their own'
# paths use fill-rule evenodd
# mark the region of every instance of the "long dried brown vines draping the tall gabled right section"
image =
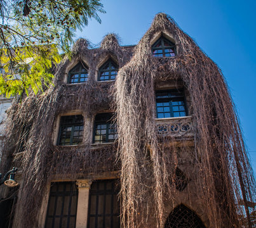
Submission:
<svg viewBox="0 0 256 228">
<path fill-rule="evenodd" d="M 152 56 L 150 41 L 161 32 L 173 35 L 177 57 Z M 172 139 L 159 143 L 154 120 L 154 87 L 158 81 L 170 80 L 182 81 L 191 98 L 193 150 L 200 156 L 200 161 L 192 164 L 196 175 L 187 192 L 207 205 L 204 209 L 211 227 L 242 227 L 245 221 L 239 215 L 247 209 L 238 205 L 238 200 L 255 201 L 255 180 L 226 82 L 218 66 L 163 13 L 135 47 L 115 84 L 123 227 L 146 223 L 146 205 L 152 196 L 156 222 L 163 227 L 165 196 L 169 203 L 175 201 L 172 182 L 179 163 L 177 148 L 165 146 Z M 147 165 L 147 146 L 151 147 L 152 166 Z M 191 147 L 181 144 L 180 150 L 185 153 Z"/>
</svg>

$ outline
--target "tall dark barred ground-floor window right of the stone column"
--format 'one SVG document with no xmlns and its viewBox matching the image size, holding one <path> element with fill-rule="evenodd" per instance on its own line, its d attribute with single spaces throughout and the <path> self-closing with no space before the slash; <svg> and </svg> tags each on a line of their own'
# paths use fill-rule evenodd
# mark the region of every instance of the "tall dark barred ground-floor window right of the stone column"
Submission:
<svg viewBox="0 0 256 228">
<path fill-rule="evenodd" d="M 119 228 L 118 181 L 95 181 L 91 184 L 88 228 Z"/>
</svg>

